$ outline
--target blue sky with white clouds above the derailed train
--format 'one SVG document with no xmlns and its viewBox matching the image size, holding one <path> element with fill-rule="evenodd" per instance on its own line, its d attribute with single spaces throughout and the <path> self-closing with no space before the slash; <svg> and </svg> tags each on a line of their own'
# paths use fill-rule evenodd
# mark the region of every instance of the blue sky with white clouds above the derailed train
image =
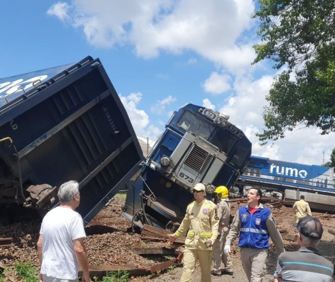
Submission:
<svg viewBox="0 0 335 282">
<path fill-rule="evenodd" d="M 141 137 L 154 139 L 173 110 L 225 111 L 253 154 L 307 164 L 329 159 L 334 134 L 297 129 L 260 147 L 271 62 L 251 66 L 252 0 L 72 0 L 2 4 L 0 78 L 100 58 Z"/>
</svg>

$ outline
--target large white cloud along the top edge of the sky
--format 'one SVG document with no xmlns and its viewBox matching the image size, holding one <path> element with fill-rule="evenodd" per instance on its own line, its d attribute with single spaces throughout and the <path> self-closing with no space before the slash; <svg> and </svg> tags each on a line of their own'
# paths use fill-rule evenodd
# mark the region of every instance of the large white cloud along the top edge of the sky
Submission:
<svg viewBox="0 0 335 282">
<path fill-rule="evenodd" d="M 83 29 L 97 47 L 131 44 L 143 58 L 157 57 L 161 50 L 193 50 L 232 72 L 245 72 L 254 57 L 251 42 L 237 43 L 253 27 L 252 0 L 73 0 L 72 9 L 56 5 L 66 6 L 61 11 L 69 18 L 51 15 Z"/>
</svg>

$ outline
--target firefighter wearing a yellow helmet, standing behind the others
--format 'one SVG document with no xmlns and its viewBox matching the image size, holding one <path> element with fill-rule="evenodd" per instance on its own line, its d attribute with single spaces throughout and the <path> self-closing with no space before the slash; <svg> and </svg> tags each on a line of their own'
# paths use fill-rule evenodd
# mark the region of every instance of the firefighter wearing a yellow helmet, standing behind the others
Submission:
<svg viewBox="0 0 335 282">
<path fill-rule="evenodd" d="M 216 194 L 217 215 L 219 218 L 219 237 L 213 246 L 213 270 L 212 275 L 220 276 L 222 274 L 233 275 L 233 264 L 229 253 L 223 252 L 223 246 L 226 243 L 226 237 L 229 233 L 230 203 L 228 198 L 228 189 L 225 186 L 219 186 L 214 193 Z M 221 269 L 223 262 L 225 268 Z"/>
</svg>

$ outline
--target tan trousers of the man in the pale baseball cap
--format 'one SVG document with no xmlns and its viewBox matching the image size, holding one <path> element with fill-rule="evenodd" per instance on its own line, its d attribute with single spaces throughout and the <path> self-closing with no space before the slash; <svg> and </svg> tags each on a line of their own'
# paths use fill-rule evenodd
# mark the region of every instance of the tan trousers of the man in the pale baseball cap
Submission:
<svg viewBox="0 0 335 282">
<path fill-rule="evenodd" d="M 201 282 L 211 282 L 212 251 L 190 249 L 184 251 L 182 258 L 184 267 L 180 282 L 189 282 L 192 279 L 197 260 L 199 260 L 201 268 Z"/>
</svg>

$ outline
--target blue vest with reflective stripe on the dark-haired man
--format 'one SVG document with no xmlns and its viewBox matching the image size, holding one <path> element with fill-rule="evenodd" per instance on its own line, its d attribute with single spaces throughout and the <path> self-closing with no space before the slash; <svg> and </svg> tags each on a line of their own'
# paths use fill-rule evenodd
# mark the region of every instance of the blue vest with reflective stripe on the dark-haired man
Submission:
<svg viewBox="0 0 335 282">
<path fill-rule="evenodd" d="M 266 220 L 269 218 L 271 210 L 266 207 L 258 208 L 253 214 L 247 206 L 238 210 L 240 217 L 240 248 L 269 248 L 269 233 L 266 230 Z"/>
</svg>

